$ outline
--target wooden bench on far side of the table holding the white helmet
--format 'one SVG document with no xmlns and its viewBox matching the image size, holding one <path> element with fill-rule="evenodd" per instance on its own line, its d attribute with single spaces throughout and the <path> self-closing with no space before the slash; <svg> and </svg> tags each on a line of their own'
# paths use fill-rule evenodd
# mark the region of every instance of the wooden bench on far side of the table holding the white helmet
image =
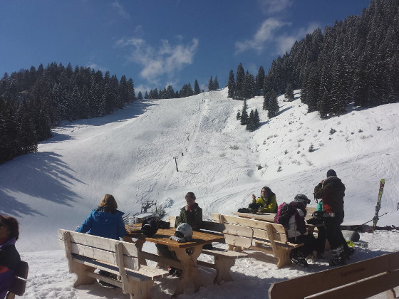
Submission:
<svg viewBox="0 0 399 299">
<path fill-rule="evenodd" d="M 169 217 L 170 226 L 175 226 L 176 217 Z M 222 234 L 225 227 L 222 224 L 218 224 L 212 221 L 202 221 L 202 229 L 204 232 L 212 232 L 213 234 Z M 237 258 L 246 258 L 247 253 L 236 252 L 230 250 L 224 250 L 222 248 L 212 248 L 212 249 L 202 249 L 202 254 L 207 254 L 209 256 L 214 256 L 214 263 L 208 263 L 205 261 L 197 261 L 199 266 L 212 268 L 216 270 L 216 277 L 214 278 L 214 283 L 219 284 L 222 281 L 232 281 L 232 276 L 230 274 L 230 269 L 234 266 Z M 179 268 L 179 267 L 176 267 Z"/>
</svg>

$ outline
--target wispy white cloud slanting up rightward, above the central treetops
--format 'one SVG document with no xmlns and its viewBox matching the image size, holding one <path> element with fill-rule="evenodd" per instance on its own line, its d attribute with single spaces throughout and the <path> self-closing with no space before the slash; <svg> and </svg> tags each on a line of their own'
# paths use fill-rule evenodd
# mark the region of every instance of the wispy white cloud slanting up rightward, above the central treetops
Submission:
<svg viewBox="0 0 399 299">
<path fill-rule="evenodd" d="M 246 41 L 237 41 L 235 43 L 236 54 L 247 51 L 249 49 L 254 49 L 259 52 L 263 51 L 264 43 L 266 41 L 271 41 L 274 38 L 274 32 L 281 28 L 282 26 L 289 25 L 283 21 L 279 21 L 276 18 L 266 19 L 258 29 L 257 33 L 254 34 L 252 39 Z"/>
</svg>

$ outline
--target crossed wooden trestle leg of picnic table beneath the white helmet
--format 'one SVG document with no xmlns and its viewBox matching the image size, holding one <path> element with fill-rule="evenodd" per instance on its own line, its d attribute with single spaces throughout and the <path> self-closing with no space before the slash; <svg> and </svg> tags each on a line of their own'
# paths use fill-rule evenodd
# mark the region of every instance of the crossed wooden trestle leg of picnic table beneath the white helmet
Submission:
<svg viewBox="0 0 399 299">
<path fill-rule="evenodd" d="M 192 252 L 190 256 L 186 253 L 186 248 L 175 248 L 174 250 L 176 252 L 177 258 L 182 262 L 182 277 L 180 278 L 181 280 L 177 285 L 172 298 L 182 294 L 185 291 L 185 288 L 187 288 L 187 285 L 190 283 L 194 284 L 195 292 L 197 292 L 202 286 L 197 268 L 197 259 L 201 254 L 202 246 L 190 248 L 190 251 Z"/>
</svg>

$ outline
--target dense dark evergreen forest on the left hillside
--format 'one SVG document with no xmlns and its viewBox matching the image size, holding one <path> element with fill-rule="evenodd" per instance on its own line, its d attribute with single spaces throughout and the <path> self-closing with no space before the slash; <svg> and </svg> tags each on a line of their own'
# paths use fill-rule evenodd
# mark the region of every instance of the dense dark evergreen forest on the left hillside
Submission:
<svg viewBox="0 0 399 299">
<path fill-rule="evenodd" d="M 99 117 L 136 99 L 133 80 L 50 63 L 0 79 L 0 163 L 36 152 L 61 120 Z"/>
</svg>

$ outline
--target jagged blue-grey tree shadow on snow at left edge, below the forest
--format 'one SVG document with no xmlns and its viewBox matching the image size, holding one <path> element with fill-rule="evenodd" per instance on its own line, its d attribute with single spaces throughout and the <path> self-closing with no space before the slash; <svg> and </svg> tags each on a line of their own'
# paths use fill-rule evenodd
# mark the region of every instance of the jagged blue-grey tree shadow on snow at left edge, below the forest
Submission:
<svg viewBox="0 0 399 299">
<path fill-rule="evenodd" d="M 61 155 L 55 152 L 36 152 L 2 164 L 0 212 L 16 216 L 40 214 L 11 194 L 26 194 L 56 204 L 72 206 L 80 196 L 72 192 L 68 184 L 85 183 L 73 177 L 73 170 L 59 157 Z"/>
</svg>

